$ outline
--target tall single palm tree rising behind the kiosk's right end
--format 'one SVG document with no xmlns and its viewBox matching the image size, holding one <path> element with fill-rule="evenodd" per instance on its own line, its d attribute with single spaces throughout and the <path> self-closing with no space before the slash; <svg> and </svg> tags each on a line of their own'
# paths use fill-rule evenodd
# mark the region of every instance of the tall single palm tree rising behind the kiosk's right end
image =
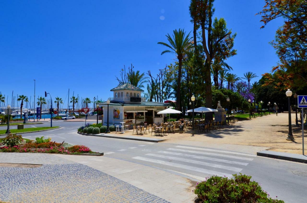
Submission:
<svg viewBox="0 0 307 203">
<path fill-rule="evenodd" d="M 171 37 L 169 34 L 165 35 L 167 37 L 167 40 L 169 41 L 169 44 L 164 43 L 164 42 L 158 42 L 158 44 L 162 44 L 169 48 L 168 50 L 165 50 L 161 53 L 161 55 L 165 53 L 173 53 L 177 55 L 178 59 L 178 79 L 177 79 L 177 95 L 176 95 L 176 104 L 177 104 L 177 109 L 180 109 L 180 97 L 181 97 L 181 71 L 182 71 L 182 59 L 186 55 L 186 53 L 192 48 L 192 43 L 191 43 L 191 37 L 190 33 L 188 35 L 185 35 L 184 29 L 175 29 L 173 31 L 173 37 Z M 178 114 L 179 117 L 179 114 Z"/>
</svg>

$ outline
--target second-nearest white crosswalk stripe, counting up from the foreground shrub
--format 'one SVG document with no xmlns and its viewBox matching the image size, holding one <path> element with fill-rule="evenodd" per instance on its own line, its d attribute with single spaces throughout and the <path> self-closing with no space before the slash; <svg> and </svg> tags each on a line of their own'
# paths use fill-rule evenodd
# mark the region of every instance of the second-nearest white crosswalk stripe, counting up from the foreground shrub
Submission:
<svg viewBox="0 0 307 203">
<path fill-rule="evenodd" d="M 200 164 L 200 165 L 204 165 L 204 166 L 221 168 L 221 169 L 231 170 L 231 171 L 236 171 L 236 172 L 240 172 L 242 170 L 242 168 L 223 166 L 223 165 L 220 165 L 220 164 L 208 163 L 208 162 L 203 162 L 203 161 L 195 161 L 195 160 L 191 160 L 191 159 L 183 159 L 183 158 L 178 158 L 178 157 L 173 157 L 173 156 L 165 156 L 165 155 L 159 155 L 159 154 L 146 154 L 146 155 L 159 157 L 159 158 L 163 158 L 163 159 L 172 159 L 172 160 L 177 160 L 177 161 L 182 161 L 182 162 L 187 162 L 187 163 L 195 163 L 195 164 Z"/>
</svg>

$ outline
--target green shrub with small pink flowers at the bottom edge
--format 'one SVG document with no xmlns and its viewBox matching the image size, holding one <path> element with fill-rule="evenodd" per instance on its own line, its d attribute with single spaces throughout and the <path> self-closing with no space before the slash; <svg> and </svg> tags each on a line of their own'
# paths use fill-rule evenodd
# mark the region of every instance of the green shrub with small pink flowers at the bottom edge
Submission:
<svg viewBox="0 0 307 203">
<path fill-rule="evenodd" d="M 272 199 L 270 194 L 262 190 L 259 184 L 251 181 L 251 176 L 234 174 L 233 179 L 219 176 L 206 178 L 195 186 L 196 202 L 262 202 L 284 203 Z"/>
</svg>

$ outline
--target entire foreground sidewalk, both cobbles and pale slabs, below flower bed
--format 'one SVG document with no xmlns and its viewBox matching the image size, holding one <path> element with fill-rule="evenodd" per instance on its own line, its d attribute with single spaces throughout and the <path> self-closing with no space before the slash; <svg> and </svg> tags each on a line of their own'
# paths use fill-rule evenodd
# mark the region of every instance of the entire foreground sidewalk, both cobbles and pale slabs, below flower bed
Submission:
<svg viewBox="0 0 307 203">
<path fill-rule="evenodd" d="M 103 156 L 0 153 L 0 200 L 15 202 L 192 202 L 192 184 L 167 171 Z"/>
</svg>

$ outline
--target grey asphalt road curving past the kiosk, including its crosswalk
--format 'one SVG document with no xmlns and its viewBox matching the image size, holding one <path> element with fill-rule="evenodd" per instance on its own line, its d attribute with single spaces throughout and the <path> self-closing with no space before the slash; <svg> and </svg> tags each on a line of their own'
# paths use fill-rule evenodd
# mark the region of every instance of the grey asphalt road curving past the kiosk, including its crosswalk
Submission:
<svg viewBox="0 0 307 203">
<path fill-rule="evenodd" d="M 110 158 L 156 167 L 193 180 L 204 180 L 209 175 L 248 174 L 272 197 L 278 196 L 285 202 L 293 203 L 307 199 L 307 177 L 293 174 L 293 171 L 301 171 L 307 175 L 306 164 L 221 149 L 84 136 L 76 133 L 82 124 L 54 121 L 53 126 L 60 126 L 60 129 L 25 133 L 23 137 L 35 139 L 45 136 L 57 142 L 65 140 L 71 144 L 83 144 L 92 151 L 104 152 Z M 50 126 L 50 122 L 35 126 Z"/>
</svg>

